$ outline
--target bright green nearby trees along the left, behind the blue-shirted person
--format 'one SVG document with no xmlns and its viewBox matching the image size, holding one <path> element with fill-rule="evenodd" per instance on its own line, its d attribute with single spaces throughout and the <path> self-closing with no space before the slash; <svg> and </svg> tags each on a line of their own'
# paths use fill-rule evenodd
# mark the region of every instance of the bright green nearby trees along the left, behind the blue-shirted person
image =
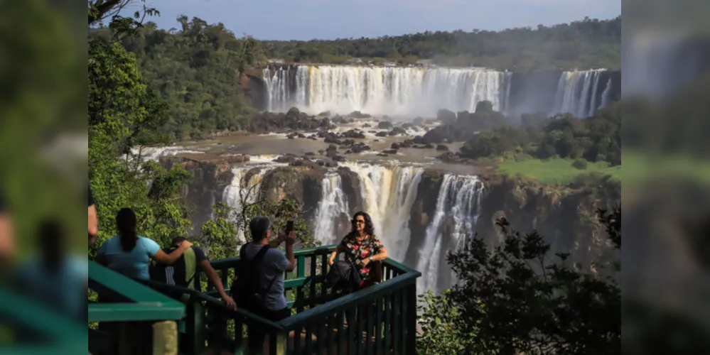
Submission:
<svg viewBox="0 0 710 355">
<path fill-rule="evenodd" d="M 114 6 L 124 2 L 127 1 L 116 1 Z M 109 3 L 89 1 L 89 26 L 116 10 L 114 6 L 101 4 Z M 144 9 L 144 12 L 155 11 Z M 114 216 L 123 207 L 131 207 L 139 215 L 142 236 L 163 246 L 169 245 L 176 236 L 193 234 L 188 218 L 190 209 L 179 199 L 181 188 L 192 178 L 191 175 L 179 164 L 164 169 L 152 160 L 144 161 L 131 149 L 168 141 L 170 137 L 161 131 L 165 133 L 172 113 L 171 103 L 161 99 L 146 84 L 136 57 L 116 41 L 116 38 L 129 38 L 140 32 L 140 26 L 132 18 L 114 16 L 110 25 L 112 35 L 95 35 L 89 40 L 88 166 L 99 218 L 99 240 L 95 248 L 117 234 Z M 215 206 L 217 218 L 190 238 L 213 249 L 217 257 L 236 256 L 237 245 L 225 244 L 225 241 L 233 240 L 237 229 L 248 235 L 244 231 L 244 219 L 265 214 L 279 216 L 275 218 L 276 226 L 285 224 L 286 219 L 298 221 L 303 242 L 308 244 L 306 224 L 295 218 L 301 214 L 300 204 L 289 200 L 278 204 L 259 199 L 252 201 L 242 203 L 244 210 L 237 212 L 221 204 Z M 234 213 L 242 217 L 242 222 L 239 219 L 236 224 L 232 222 Z M 90 250 L 89 255 L 95 251 Z"/>
</svg>

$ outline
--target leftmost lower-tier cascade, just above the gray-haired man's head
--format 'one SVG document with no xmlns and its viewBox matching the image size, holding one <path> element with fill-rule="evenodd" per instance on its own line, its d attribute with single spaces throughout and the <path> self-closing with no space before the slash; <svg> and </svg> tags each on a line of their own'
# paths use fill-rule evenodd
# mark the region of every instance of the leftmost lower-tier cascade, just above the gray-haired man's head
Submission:
<svg viewBox="0 0 710 355">
<path fill-rule="evenodd" d="M 235 212 L 241 213 L 244 204 L 253 204 L 257 202 L 261 195 L 262 179 L 269 171 L 276 168 L 276 165 L 262 165 L 254 167 L 246 165 L 239 168 L 233 168 L 232 173 L 235 175 L 232 178 L 232 183 L 225 188 L 222 194 L 222 201 L 229 207 L 235 209 Z M 249 175 L 252 169 L 258 169 L 256 173 Z M 237 222 L 237 239 L 246 242 L 244 238 L 244 229 L 248 221 Z"/>
</svg>

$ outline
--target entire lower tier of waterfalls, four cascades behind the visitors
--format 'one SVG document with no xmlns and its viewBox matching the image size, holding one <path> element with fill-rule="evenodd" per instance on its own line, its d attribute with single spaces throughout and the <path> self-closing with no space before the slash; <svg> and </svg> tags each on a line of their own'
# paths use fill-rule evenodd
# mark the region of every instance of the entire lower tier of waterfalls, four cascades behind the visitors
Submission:
<svg viewBox="0 0 710 355">
<path fill-rule="evenodd" d="M 244 203 L 254 202 L 264 175 L 279 165 L 235 168 L 232 185 L 224 192 L 224 202 L 237 209 Z M 326 173 L 321 181 L 318 204 L 305 207 L 315 211 L 311 231 L 316 240 L 324 245 L 337 244 L 348 233 L 353 213 L 363 210 L 372 217 L 375 234 L 391 258 L 406 262 L 412 255 L 418 255 L 416 260 L 408 263 L 422 273 L 417 284 L 420 293 L 426 290 L 441 292 L 451 287 L 456 280 L 446 263 L 446 253 L 461 249 L 468 236 L 475 233 L 483 183 L 474 175 L 443 175 L 436 207 L 425 207 L 433 214 L 424 219 L 426 222 L 417 217 L 418 229 L 414 231 L 418 239 L 413 242 L 410 219 L 415 202 L 421 198 L 418 193 L 424 168 L 361 162 L 347 162 L 341 166 L 355 173 L 360 189 L 354 193 L 359 202 L 350 200 L 345 194 L 340 171 Z M 244 238 L 241 233 L 238 237 Z"/>
</svg>

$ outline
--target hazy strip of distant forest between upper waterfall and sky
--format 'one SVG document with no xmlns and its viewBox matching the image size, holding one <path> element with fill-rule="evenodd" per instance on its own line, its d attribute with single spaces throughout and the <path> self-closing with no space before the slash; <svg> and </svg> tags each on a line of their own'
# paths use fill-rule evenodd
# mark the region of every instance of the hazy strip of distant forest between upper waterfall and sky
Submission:
<svg viewBox="0 0 710 355">
<path fill-rule="evenodd" d="M 569 24 L 500 32 L 427 31 L 380 38 L 308 42 L 264 40 L 262 48 L 269 58 L 295 62 L 338 63 L 350 58 L 386 58 L 400 64 L 431 59 L 439 65 L 476 65 L 509 70 L 618 69 L 621 17 L 602 21 L 584 18 Z"/>
</svg>

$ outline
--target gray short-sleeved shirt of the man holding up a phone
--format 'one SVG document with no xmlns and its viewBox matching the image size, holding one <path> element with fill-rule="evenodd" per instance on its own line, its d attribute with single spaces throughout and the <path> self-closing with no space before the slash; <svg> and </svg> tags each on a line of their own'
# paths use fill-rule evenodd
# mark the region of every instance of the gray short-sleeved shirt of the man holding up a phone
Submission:
<svg viewBox="0 0 710 355">
<path fill-rule="evenodd" d="M 264 245 L 262 244 L 248 244 L 246 250 L 248 259 L 253 259 L 257 256 Z M 255 273 L 259 278 L 259 285 L 263 289 L 266 289 L 271 284 L 271 280 L 274 280 L 274 284 L 267 291 L 264 302 L 266 303 L 264 307 L 267 310 L 279 311 L 286 308 L 286 296 L 284 295 L 284 272 L 286 268 L 289 267 L 289 259 L 286 258 L 286 254 L 279 249 L 269 249 L 267 254 L 264 255 L 262 263 L 259 265 L 257 270 L 252 270 L 249 272 Z"/>
</svg>

